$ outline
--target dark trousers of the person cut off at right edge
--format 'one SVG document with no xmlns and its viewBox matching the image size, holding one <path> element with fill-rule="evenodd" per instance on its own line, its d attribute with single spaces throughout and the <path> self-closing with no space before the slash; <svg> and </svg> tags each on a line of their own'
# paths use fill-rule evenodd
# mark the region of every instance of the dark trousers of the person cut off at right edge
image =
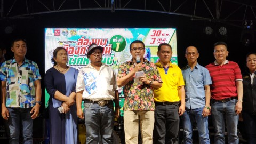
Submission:
<svg viewBox="0 0 256 144">
<path fill-rule="evenodd" d="M 256 143 L 256 115 L 247 113 L 246 111 L 242 112 L 245 130 L 247 134 L 248 144 Z"/>
</svg>

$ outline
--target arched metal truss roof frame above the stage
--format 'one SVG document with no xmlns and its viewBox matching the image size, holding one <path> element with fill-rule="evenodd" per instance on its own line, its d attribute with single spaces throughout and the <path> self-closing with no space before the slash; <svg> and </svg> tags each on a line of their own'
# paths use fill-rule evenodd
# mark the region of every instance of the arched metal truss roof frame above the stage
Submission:
<svg viewBox="0 0 256 144">
<path fill-rule="evenodd" d="M 243 27 L 256 21 L 254 0 L 0 0 L 0 20 L 66 11 L 148 11 Z"/>
</svg>

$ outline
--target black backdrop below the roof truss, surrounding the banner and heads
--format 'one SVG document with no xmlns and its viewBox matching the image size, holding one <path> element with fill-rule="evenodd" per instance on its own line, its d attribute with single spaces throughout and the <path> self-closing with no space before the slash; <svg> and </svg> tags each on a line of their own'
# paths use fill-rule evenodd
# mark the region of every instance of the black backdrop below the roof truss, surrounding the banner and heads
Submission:
<svg viewBox="0 0 256 144">
<path fill-rule="evenodd" d="M 15 37 L 23 37 L 27 40 L 26 58 L 35 61 L 44 77 L 44 28 L 177 28 L 178 65 L 183 67 L 187 60 L 184 57 L 186 47 L 193 45 L 198 48 L 198 63 L 202 66 L 213 62 L 213 44 L 224 41 L 228 44 L 228 60 L 235 61 L 244 70 L 245 55 L 255 50 L 255 43 L 244 46 L 240 42 L 241 27 L 223 25 L 227 28 L 226 37 L 215 33 L 208 36 L 203 33 L 207 22 L 191 20 L 189 17 L 172 15 L 167 13 L 115 10 L 86 10 L 68 11 L 58 13 L 45 13 L 34 15 L 26 19 L 1 19 L 0 39 L 8 46 L 6 59 L 13 57 L 10 51 L 10 43 Z M 213 23 L 215 26 L 222 23 Z M 13 26 L 13 32 L 6 34 L 7 25 Z M 242 25 L 242 23 L 241 23 Z M 54 49 L 54 47 L 52 47 Z M 42 81 L 42 92 L 44 85 Z M 42 97 L 43 98 L 43 97 Z M 44 101 L 42 99 L 42 101 Z"/>
</svg>

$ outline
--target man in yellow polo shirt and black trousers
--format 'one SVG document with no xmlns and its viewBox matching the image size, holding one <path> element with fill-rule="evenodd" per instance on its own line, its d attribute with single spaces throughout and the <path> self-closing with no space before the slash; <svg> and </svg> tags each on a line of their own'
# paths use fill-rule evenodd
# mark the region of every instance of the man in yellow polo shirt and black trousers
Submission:
<svg viewBox="0 0 256 144">
<path fill-rule="evenodd" d="M 181 69 L 170 61 L 172 47 L 158 46 L 156 64 L 163 84 L 154 90 L 155 125 L 153 143 L 178 143 L 180 117 L 185 111 L 185 89 Z M 180 104 L 180 107 L 179 107 Z"/>
</svg>

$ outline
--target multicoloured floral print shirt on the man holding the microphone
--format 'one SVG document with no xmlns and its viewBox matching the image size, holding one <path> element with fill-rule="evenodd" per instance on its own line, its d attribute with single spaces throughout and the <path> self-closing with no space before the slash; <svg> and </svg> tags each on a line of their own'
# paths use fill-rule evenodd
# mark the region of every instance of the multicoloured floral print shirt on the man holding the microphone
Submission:
<svg viewBox="0 0 256 144">
<path fill-rule="evenodd" d="M 153 62 L 144 59 L 141 71 L 144 71 L 148 79 L 162 83 L 160 74 Z M 124 62 L 119 66 L 117 80 L 126 76 L 133 70 L 133 61 Z M 145 83 L 135 83 L 135 74 L 130 81 L 124 85 L 124 111 L 125 110 L 155 110 L 153 87 Z"/>
</svg>

